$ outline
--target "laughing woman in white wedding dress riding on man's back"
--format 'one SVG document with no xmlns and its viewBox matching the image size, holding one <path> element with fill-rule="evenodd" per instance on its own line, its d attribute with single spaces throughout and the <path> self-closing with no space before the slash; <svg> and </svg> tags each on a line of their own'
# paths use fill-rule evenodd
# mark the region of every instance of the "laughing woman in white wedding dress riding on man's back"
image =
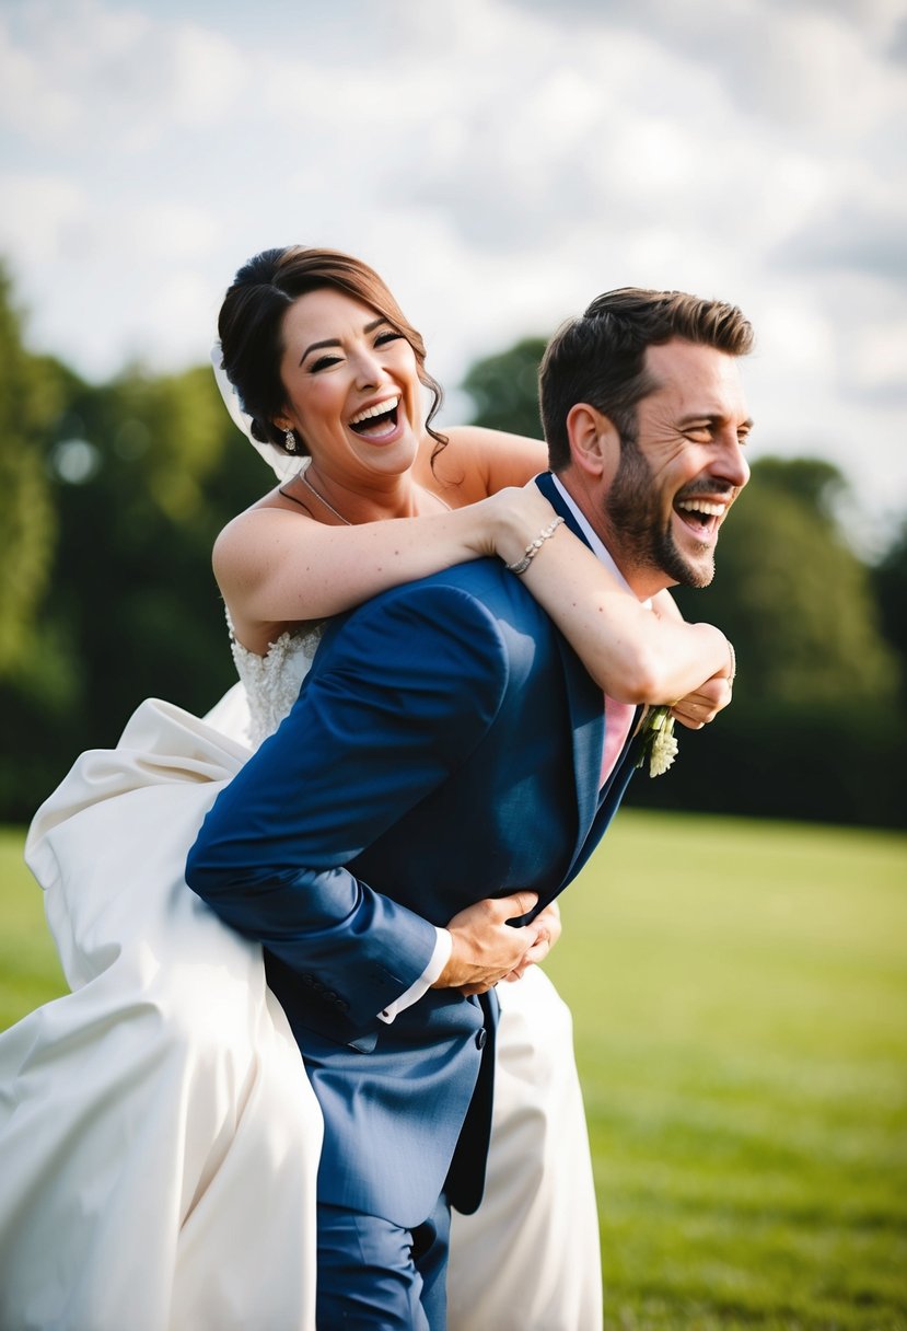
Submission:
<svg viewBox="0 0 907 1331">
<path fill-rule="evenodd" d="M 294 365 L 289 321 L 326 289 L 374 315 L 367 339 L 354 354 L 326 326 Z M 544 469 L 541 445 L 432 429 L 422 338 L 359 261 L 258 256 L 219 331 L 245 413 L 229 405 L 281 482 L 214 551 L 241 683 L 205 721 L 144 703 L 32 824 L 27 858 L 73 992 L 0 1037 L 1 1328 L 313 1331 L 318 1106 L 261 949 L 188 890 L 185 853 L 289 711 L 321 622 L 457 560 L 515 562 L 552 516 L 535 487 L 515 488 Z M 354 387 L 384 411 L 350 411 Z M 375 462 L 392 398 L 418 447 Z M 682 699 L 690 725 L 727 700 L 723 636 L 684 624 L 666 596 L 652 614 L 568 532 L 525 582 L 616 700 Z M 477 1214 L 455 1218 L 452 1331 L 601 1323 L 571 1020 L 532 965 L 559 929 L 551 912 L 499 990 L 488 1183 Z"/>
</svg>

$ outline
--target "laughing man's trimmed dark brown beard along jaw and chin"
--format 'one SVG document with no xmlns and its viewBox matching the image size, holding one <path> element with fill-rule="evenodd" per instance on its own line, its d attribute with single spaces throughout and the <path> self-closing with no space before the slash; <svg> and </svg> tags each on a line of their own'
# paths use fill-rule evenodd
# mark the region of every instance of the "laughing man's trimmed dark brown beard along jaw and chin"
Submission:
<svg viewBox="0 0 907 1331">
<path fill-rule="evenodd" d="M 665 512 L 664 495 L 636 439 L 621 437 L 621 459 L 604 510 L 621 568 L 657 570 L 682 587 L 709 586 L 715 572 L 712 550 L 704 543 L 694 563 L 677 547 L 672 503 Z"/>
</svg>

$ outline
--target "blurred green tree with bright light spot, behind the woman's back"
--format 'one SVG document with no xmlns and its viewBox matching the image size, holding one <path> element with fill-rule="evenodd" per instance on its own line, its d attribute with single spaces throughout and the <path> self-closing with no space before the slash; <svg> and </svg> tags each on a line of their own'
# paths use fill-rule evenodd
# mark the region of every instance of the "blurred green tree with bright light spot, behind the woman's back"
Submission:
<svg viewBox="0 0 907 1331">
<path fill-rule="evenodd" d="M 0 687 L 7 820 L 29 817 L 81 749 L 114 744 L 142 697 L 203 712 L 233 683 L 210 551 L 271 483 L 206 367 L 164 378 L 132 367 L 102 386 L 69 377 L 47 434 L 59 535 Z"/>
</svg>

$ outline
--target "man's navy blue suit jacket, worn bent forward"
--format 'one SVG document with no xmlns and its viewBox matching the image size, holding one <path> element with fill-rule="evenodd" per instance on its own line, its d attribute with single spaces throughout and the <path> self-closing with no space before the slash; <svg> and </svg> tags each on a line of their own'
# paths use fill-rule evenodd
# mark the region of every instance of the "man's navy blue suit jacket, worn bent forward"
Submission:
<svg viewBox="0 0 907 1331">
<path fill-rule="evenodd" d="M 378 1013 L 423 973 L 432 925 L 521 888 L 541 909 L 576 876 L 633 771 L 628 744 L 600 791 L 602 741 L 600 689 L 520 579 L 480 559 L 332 624 L 218 796 L 188 881 L 265 946 L 324 1113 L 323 1201 L 403 1226 L 446 1179 L 460 1210 L 479 1203 L 493 996 L 432 989 L 392 1024 Z"/>
</svg>

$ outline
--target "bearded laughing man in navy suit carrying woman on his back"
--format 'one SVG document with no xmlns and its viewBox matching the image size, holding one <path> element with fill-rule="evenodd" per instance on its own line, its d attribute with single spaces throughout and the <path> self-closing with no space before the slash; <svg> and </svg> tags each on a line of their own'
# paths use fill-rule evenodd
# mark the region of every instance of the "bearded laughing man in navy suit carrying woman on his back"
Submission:
<svg viewBox="0 0 907 1331">
<path fill-rule="evenodd" d="M 731 306 L 626 289 L 545 353 L 539 484 L 640 599 L 712 580 L 749 475 L 750 346 Z M 324 1114 L 319 1327 L 443 1328 L 448 1206 L 479 1205 L 491 1118 L 496 1001 L 475 990 L 497 978 L 452 988 L 443 926 L 519 889 L 528 925 L 634 769 L 633 708 L 605 715 L 521 571 L 475 560 L 334 626 L 189 857 L 262 941 Z"/>
</svg>

